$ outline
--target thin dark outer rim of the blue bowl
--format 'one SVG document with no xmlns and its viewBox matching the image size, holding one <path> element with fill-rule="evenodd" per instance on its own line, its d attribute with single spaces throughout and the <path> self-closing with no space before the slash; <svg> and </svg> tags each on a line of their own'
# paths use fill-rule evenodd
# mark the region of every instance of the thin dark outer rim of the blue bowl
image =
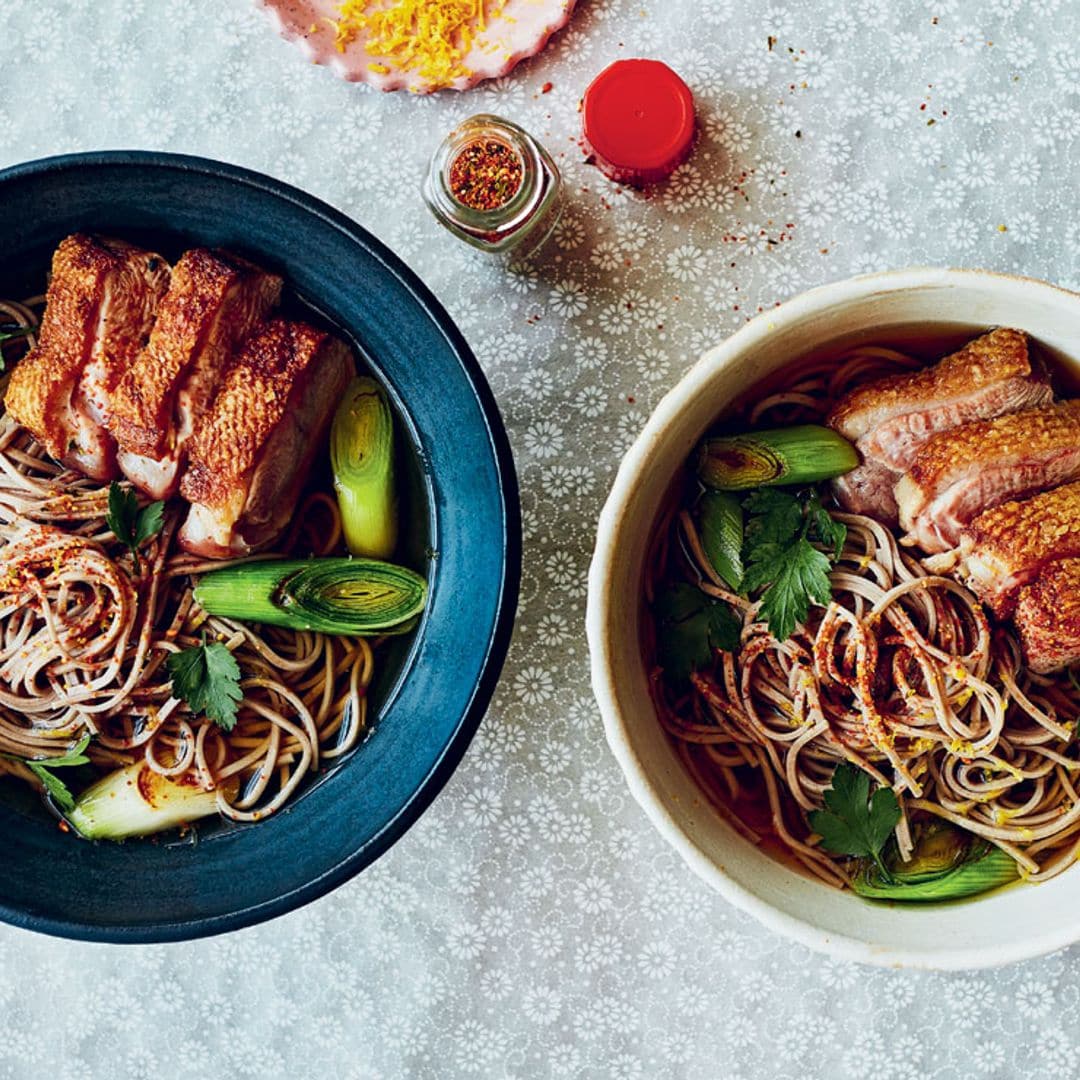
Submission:
<svg viewBox="0 0 1080 1080">
<path fill-rule="evenodd" d="M 481 673 L 472 694 L 442 753 L 414 791 L 384 827 L 367 843 L 306 885 L 262 902 L 238 907 L 227 914 L 194 917 L 184 921 L 147 922 L 137 927 L 111 927 L 42 915 L 22 907 L 0 904 L 0 920 L 40 933 L 78 941 L 113 944 L 147 944 L 189 941 L 240 930 L 276 918 L 334 891 L 361 870 L 380 859 L 416 824 L 461 762 L 480 727 L 498 685 L 510 649 L 517 609 L 522 573 L 522 522 L 517 472 L 510 438 L 490 384 L 464 335 L 449 313 L 403 259 L 373 233 L 341 211 L 306 191 L 274 179 L 255 170 L 193 154 L 157 150 L 92 150 L 55 154 L 21 162 L 0 170 L 0 190 L 12 180 L 33 179 L 60 172 L 79 172 L 107 166 L 110 168 L 170 170 L 224 179 L 240 188 L 248 188 L 289 203 L 306 215 L 343 234 L 351 243 L 364 248 L 396 278 L 416 306 L 446 339 L 448 349 L 461 366 L 462 375 L 475 395 L 483 414 L 487 442 L 501 500 L 500 580 L 491 630 L 484 647 Z"/>
</svg>

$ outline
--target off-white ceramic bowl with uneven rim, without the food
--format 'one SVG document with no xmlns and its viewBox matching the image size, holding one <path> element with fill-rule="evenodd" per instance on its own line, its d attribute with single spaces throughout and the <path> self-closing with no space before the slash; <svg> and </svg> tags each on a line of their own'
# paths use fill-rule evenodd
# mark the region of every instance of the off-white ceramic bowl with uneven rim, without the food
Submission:
<svg viewBox="0 0 1080 1080">
<path fill-rule="evenodd" d="M 637 801 L 689 865 L 766 926 L 836 957 L 882 966 L 984 968 L 1080 940 L 1080 870 L 951 905 L 878 905 L 810 880 L 739 836 L 678 760 L 649 698 L 638 642 L 643 567 L 661 499 L 731 401 L 811 352 L 987 326 L 1025 329 L 1080 374 L 1080 295 L 963 270 L 903 270 L 805 293 L 707 352 L 660 403 L 623 459 L 589 577 L 593 690 Z"/>
</svg>

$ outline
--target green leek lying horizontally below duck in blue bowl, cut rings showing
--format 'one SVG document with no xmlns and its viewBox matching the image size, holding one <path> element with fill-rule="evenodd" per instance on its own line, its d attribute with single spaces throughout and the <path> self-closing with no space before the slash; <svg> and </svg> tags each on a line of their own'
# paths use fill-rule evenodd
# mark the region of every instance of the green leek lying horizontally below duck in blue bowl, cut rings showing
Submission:
<svg viewBox="0 0 1080 1080">
<path fill-rule="evenodd" d="M 227 619 L 363 637 L 408 629 L 423 610 L 428 583 L 374 558 L 285 559 L 214 570 L 194 595 Z"/>
</svg>

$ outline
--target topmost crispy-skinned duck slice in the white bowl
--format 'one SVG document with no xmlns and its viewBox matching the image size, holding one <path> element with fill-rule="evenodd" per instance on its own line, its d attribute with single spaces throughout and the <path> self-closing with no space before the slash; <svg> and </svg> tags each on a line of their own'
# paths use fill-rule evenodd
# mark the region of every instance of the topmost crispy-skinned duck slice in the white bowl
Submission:
<svg viewBox="0 0 1080 1080">
<path fill-rule="evenodd" d="M 863 463 L 834 482 L 840 504 L 895 526 L 893 487 L 932 435 L 1049 403 L 1045 372 L 1027 335 L 996 329 L 933 367 L 878 379 L 837 403 L 828 424 L 851 440 Z"/>
</svg>

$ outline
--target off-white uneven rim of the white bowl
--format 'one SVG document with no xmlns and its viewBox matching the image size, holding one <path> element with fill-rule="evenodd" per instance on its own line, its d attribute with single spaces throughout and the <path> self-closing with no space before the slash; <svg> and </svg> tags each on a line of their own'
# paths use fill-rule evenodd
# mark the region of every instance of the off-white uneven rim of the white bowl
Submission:
<svg viewBox="0 0 1080 1080">
<path fill-rule="evenodd" d="M 876 295 L 947 288 L 954 285 L 980 286 L 990 292 L 1008 288 L 1014 297 L 1017 292 L 1023 292 L 1029 295 L 1061 294 L 1062 298 L 1070 301 L 1080 299 L 1080 293 L 1035 278 L 990 270 L 910 267 L 858 274 L 819 285 L 755 315 L 703 353 L 649 416 L 619 465 L 597 523 L 596 544 L 589 568 L 585 633 L 593 694 L 599 706 L 608 746 L 619 762 L 631 794 L 652 825 L 702 880 L 726 901 L 752 915 L 768 929 L 836 959 L 882 968 L 970 971 L 1028 960 L 1080 940 L 1080 921 L 1037 931 L 1020 940 L 1003 941 L 993 953 L 970 946 L 915 950 L 875 945 L 856 937 L 826 932 L 809 921 L 779 910 L 740 885 L 704 852 L 675 814 L 667 810 L 657 785 L 634 748 L 632 725 L 626 723 L 619 707 L 617 677 L 611 664 L 616 633 L 608 583 L 612 580 L 619 561 L 619 535 L 627 527 L 626 503 L 640 474 L 649 468 L 653 453 L 663 443 L 669 427 L 712 380 L 718 368 L 726 366 L 734 356 L 761 346 L 777 329 L 791 327 L 839 301 L 865 302 Z"/>
</svg>

